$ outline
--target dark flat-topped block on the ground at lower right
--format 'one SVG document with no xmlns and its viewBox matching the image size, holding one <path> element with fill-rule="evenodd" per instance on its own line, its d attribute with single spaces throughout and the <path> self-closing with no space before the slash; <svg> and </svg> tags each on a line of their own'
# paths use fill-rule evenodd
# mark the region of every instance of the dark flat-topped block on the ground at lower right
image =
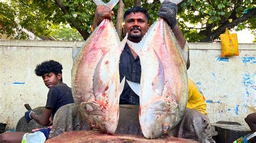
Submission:
<svg viewBox="0 0 256 143">
<path fill-rule="evenodd" d="M 218 132 L 218 135 L 214 137 L 216 142 L 233 142 L 251 132 L 241 125 L 212 124 L 212 126 L 215 126 L 215 130 Z"/>
</svg>

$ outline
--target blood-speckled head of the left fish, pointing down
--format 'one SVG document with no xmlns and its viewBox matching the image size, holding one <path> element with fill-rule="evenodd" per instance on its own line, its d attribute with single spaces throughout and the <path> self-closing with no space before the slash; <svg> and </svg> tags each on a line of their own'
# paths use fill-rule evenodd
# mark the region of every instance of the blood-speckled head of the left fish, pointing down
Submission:
<svg viewBox="0 0 256 143">
<path fill-rule="evenodd" d="M 91 101 L 80 104 L 82 116 L 100 132 L 113 134 L 117 129 L 119 111 L 113 111 L 111 107 Z M 117 109 L 118 110 L 118 109 Z M 116 115 L 114 115 L 116 113 Z"/>
</svg>

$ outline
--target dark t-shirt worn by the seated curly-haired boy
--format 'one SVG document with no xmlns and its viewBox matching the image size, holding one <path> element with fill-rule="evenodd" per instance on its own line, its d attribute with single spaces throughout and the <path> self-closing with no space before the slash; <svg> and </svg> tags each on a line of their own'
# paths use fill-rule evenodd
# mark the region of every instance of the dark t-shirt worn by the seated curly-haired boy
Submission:
<svg viewBox="0 0 256 143">
<path fill-rule="evenodd" d="M 52 118 L 57 110 L 66 104 L 74 103 L 71 88 L 65 83 L 53 85 L 48 92 L 45 108 L 52 109 Z"/>
</svg>

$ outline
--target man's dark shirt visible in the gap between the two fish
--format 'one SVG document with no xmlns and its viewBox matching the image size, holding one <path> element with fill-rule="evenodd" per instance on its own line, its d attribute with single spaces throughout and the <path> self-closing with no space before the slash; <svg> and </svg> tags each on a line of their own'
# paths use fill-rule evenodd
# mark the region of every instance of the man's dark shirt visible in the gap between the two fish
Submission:
<svg viewBox="0 0 256 143">
<path fill-rule="evenodd" d="M 125 76 L 124 90 L 120 96 L 119 104 L 139 105 L 139 96 L 132 91 L 126 80 L 140 83 L 141 73 L 142 68 L 140 66 L 139 56 L 134 59 L 129 46 L 126 44 L 119 63 L 120 81 L 123 80 Z"/>
</svg>

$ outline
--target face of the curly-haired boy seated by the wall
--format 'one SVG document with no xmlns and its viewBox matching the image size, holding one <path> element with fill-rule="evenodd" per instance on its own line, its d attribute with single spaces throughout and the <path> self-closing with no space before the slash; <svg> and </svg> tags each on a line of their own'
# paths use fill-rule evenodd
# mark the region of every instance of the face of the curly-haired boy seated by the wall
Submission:
<svg viewBox="0 0 256 143">
<path fill-rule="evenodd" d="M 46 73 L 42 76 L 44 84 L 46 87 L 51 88 L 53 85 L 60 83 L 60 79 L 62 78 L 62 74 L 58 73 Z"/>
</svg>

